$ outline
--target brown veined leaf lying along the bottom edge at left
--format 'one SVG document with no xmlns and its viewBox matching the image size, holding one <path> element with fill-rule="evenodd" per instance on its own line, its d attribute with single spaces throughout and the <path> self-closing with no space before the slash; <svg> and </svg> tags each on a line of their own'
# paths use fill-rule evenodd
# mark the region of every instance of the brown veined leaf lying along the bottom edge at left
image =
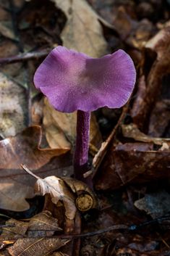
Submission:
<svg viewBox="0 0 170 256">
<path fill-rule="evenodd" d="M 49 255 L 56 249 L 63 247 L 69 242 L 68 239 L 56 238 L 24 238 L 18 239 L 12 247 L 8 249 L 12 256 L 42 256 Z"/>
</svg>

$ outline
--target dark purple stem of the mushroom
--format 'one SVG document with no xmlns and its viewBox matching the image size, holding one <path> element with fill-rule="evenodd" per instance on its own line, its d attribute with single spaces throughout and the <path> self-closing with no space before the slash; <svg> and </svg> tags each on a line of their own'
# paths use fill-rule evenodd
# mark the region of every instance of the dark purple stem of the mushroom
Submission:
<svg viewBox="0 0 170 256">
<path fill-rule="evenodd" d="M 88 171 L 88 144 L 90 134 L 90 112 L 77 111 L 77 138 L 75 144 L 74 171 L 75 178 L 92 186 L 91 178 L 84 178 Z"/>
</svg>

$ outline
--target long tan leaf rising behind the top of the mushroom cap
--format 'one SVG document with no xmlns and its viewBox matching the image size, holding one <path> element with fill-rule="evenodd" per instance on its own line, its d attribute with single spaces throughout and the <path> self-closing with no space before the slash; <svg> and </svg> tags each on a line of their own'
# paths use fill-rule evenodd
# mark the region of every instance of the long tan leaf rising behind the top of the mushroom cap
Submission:
<svg viewBox="0 0 170 256">
<path fill-rule="evenodd" d="M 85 0 L 52 0 L 67 17 L 67 23 L 61 33 L 63 45 L 82 51 L 91 57 L 106 54 L 106 41 L 99 19 Z"/>
</svg>

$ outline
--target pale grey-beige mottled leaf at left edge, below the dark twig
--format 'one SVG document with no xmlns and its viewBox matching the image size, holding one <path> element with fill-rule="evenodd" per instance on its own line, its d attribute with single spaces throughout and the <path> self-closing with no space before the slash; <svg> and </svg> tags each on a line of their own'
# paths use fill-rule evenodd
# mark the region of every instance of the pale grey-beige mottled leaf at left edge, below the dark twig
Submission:
<svg viewBox="0 0 170 256">
<path fill-rule="evenodd" d="M 0 135 L 15 136 L 25 128 L 24 89 L 0 73 Z"/>
</svg>

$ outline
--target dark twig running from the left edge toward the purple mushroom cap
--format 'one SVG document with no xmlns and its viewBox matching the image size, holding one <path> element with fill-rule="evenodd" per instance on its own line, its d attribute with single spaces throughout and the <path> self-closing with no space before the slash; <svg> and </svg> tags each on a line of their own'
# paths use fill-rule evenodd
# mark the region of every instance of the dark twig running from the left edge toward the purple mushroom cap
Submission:
<svg viewBox="0 0 170 256">
<path fill-rule="evenodd" d="M 28 61 L 30 59 L 40 59 L 46 57 L 49 53 L 49 49 L 43 51 L 32 51 L 24 54 L 18 54 L 12 57 L 0 58 L 0 65 L 11 64 L 15 62 Z"/>
</svg>

